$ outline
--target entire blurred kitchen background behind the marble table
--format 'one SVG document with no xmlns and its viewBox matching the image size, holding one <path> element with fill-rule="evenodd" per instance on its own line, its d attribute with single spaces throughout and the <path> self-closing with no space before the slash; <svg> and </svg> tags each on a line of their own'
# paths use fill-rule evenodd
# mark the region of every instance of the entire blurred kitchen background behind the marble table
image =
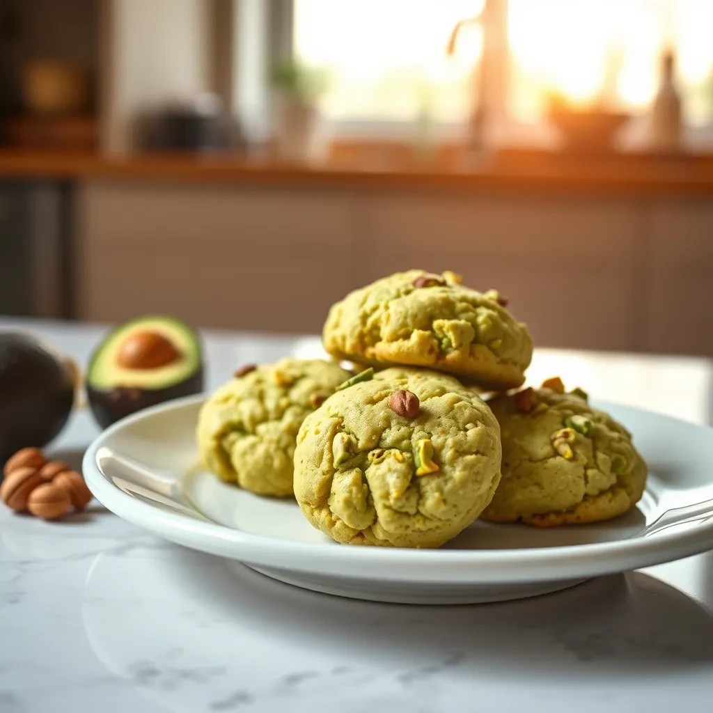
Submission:
<svg viewBox="0 0 713 713">
<path fill-rule="evenodd" d="M 409 267 L 713 354 L 710 0 L 0 0 L 0 314 L 316 332 Z"/>
</svg>

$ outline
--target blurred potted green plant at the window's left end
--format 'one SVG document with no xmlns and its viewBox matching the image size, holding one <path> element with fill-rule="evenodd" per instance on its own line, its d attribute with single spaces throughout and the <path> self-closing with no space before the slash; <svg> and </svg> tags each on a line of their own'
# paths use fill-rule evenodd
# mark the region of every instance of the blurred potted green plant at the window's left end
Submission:
<svg viewBox="0 0 713 713">
<path fill-rule="evenodd" d="M 272 138 L 278 158 L 304 163 L 319 156 L 319 98 L 327 90 L 324 70 L 297 61 L 272 68 Z"/>
</svg>

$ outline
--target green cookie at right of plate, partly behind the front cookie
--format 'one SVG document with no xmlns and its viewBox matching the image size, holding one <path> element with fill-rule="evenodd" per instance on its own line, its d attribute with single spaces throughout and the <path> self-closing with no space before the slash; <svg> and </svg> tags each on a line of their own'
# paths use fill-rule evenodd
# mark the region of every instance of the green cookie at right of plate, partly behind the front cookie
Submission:
<svg viewBox="0 0 713 713">
<path fill-rule="evenodd" d="M 483 520 L 553 527 L 607 520 L 644 491 L 631 434 L 560 379 L 488 402 L 500 422 L 503 478 Z"/>
</svg>

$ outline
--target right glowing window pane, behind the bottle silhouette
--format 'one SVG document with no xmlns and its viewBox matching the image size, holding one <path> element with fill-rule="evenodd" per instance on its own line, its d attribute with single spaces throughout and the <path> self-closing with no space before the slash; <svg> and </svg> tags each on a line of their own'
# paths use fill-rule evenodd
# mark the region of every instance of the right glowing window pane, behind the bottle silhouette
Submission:
<svg viewBox="0 0 713 713">
<path fill-rule="evenodd" d="M 509 0 L 513 70 L 523 91 L 639 109 L 655 95 L 662 48 L 687 85 L 713 73 L 710 0 Z"/>
</svg>

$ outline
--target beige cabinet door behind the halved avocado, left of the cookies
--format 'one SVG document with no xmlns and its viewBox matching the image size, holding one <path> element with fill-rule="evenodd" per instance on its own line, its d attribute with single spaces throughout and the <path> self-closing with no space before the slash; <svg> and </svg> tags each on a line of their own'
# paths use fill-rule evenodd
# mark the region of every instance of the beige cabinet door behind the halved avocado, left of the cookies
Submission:
<svg viewBox="0 0 713 713">
<path fill-rule="evenodd" d="M 361 280 L 355 210 L 349 195 L 289 188 L 87 183 L 78 314 L 319 332 L 329 304 Z"/>
</svg>

